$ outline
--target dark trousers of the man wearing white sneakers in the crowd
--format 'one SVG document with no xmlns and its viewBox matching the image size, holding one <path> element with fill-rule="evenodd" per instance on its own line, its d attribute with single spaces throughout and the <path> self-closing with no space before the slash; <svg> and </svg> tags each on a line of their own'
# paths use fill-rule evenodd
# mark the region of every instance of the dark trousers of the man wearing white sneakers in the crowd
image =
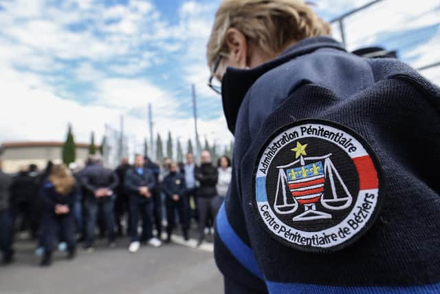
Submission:
<svg viewBox="0 0 440 294">
<path fill-rule="evenodd" d="M 139 234 L 137 233 L 137 224 L 139 218 L 142 218 L 142 241 L 148 241 L 153 238 L 153 225 L 151 220 L 153 218 L 153 202 L 135 200 L 130 201 L 130 235 L 131 242 L 139 241 Z"/>
</svg>

